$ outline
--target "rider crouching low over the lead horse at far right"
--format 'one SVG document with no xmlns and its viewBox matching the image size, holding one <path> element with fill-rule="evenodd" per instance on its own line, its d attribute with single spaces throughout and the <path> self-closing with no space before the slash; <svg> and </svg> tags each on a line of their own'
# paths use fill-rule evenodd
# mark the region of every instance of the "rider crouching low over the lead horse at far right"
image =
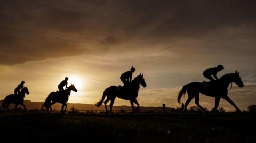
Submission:
<svg viewBox="0 0 256 143">
<path fill-rule="evenodd" d="M 224 67 L 223 67 L 222 65 L 218 65 L 217 67 L 213 67 L 213 68 L 206 69 L 206 70 L 203 72 L 203 75 L 204 75 L 205 78 L 207 78 L 207 79 L 209 79 L 209 80 L 211 80 L 211 81 L 215 81 L 215 80 L 218 80 L 218 78 L 217 78 L 217 72 L 219 72 L 219 71 L 221 71 L 221 70 L 223 70 L 223 69 L 224 69 Z M 213 77 L 214 77 L 215 79 L 212 77 L 212 75 L 213 75 Z"/>
</svg>

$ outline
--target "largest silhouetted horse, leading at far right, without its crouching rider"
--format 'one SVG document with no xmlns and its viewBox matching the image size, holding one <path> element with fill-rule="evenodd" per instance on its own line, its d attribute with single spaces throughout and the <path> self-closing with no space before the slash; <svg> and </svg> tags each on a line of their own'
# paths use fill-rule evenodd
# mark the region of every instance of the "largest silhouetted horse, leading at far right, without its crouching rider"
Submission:
<svg viewBox="0 0 256 143">
<path fill-rule="evenodd" d="M 182 95 L 185 95 L 187 91 L 188 99 L 185 103 L 185 106 L 183 107 L 183 112 L 187 110 L 188 104 L 194 97 L 195 104 L 199 108 L 201 108 L 202 111 L 206 112 L 205 109 L 199 104 L 199 93 L 215 97 L 215 106 L 211 110 L 211 112 L 214 112 L 218 108 L 220 98 L 227 100 L 227 102 L 233 105 L 238 112 L 241 112 L 236 104 L 228 97 L 227 88 L 231 82 L 235 82 L 238 87 L 244 87 L 244 84 L 239 76 L 239 72 L 237 73 L 237 71 L 235 73 L 225 74 L 219 80 L 213 82 L 191 82 L 183 86 L 183 88 L 181 89 L 178 96 L 178 103 L 180 104 L 180 98 L 182 97 Z M 209 86 L 205 88 L 205 84 Z"/>
</svg>

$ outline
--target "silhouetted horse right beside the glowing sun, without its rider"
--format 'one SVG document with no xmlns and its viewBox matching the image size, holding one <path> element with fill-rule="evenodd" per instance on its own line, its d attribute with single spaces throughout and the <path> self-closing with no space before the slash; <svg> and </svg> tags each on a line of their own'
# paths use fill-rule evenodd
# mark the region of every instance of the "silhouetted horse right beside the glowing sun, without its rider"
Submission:
<svg viewBox="0 0 256 143">
<path fill-rule="evenodd" d="M 71 93 L 71 90 L 77 92 L 77 89 L 74 85 L 69 86 L 65 91 L 62 91 L 62 92 L 51 92 L 44 102 L 44 107 L 47 108 L 47 112 L 49 112 L 49 107 L 50 107 L 50 113 L 51 113 L 52 105 L 57 102 L 62 104 L 61 112 L 65 112 L 68 106 L 67 102 L 68 102 L 68 97 Z M 63 111 L 64 106 L 65 106 L 65 110 Z"/>
</svg>

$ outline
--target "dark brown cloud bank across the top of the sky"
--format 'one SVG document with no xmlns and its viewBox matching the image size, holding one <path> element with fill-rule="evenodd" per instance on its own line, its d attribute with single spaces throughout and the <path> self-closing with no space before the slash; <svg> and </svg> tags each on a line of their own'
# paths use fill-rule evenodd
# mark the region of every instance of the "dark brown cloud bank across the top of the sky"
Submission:
<svg viewBox="0 0 256 143">
<path fill-rule="evenodd" d="M 105 52 L 138 40 L 202 38 L 220 27 L 253 31 L 254 7 L 255 1 L 1 1 L 0 64 Z"/>
</svg>

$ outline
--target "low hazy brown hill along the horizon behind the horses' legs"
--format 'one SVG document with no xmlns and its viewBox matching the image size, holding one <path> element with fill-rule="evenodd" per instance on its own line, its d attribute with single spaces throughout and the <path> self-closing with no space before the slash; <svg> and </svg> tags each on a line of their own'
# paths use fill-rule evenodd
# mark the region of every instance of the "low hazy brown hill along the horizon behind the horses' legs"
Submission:
<svg viewBox="0 0 256 143">
<path fill-rule="evenodd" d="M 0 100 L 0 105 L 2 106 L 3 100 Z M 31 102 L 30 100 L 25 100 L 24 104 L 26 105 L 27 110 L 35 110 L 35 109 L 41 109 L 43 102 Z M 56 103 L 52 106 L 53 109 L 55 110 L 60 110 L 62 104 Z M 105 110 L 104 105 L 101 105 L 99 108 L 96 107 L 93 104 L 81 104 L 81 103 L 68 103 L 67 110 L 70 110 L 71 107 L 75 107 L 76 110 Z M 14 108 L 14 104 L 11 104 L 9 106 L 9 109 Z M 20 108 L 23 108 L 22 106 L 19 105 Z M 109 106 L 108 106 L 109 109 Z M 113 110 L 132 110 L 131 106 L 113 106 Z M 163 107 L 140 107 L 141 110 L 158 110 L 162 111 Z M 166 107 L 167 110 L 172 110 L 170 107 Z"/>
</svg>

